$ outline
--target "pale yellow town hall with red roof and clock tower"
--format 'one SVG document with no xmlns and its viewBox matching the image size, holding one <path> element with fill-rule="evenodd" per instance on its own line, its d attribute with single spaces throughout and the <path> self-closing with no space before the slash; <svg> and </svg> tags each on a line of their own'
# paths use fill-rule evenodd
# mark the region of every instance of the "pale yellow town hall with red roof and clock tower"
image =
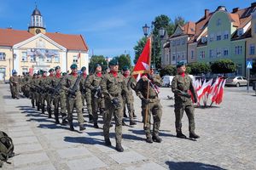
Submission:
<svg viewBox="0 0 256 170">
<path fill-rule="evenodd" d="M 18 75 L 61 66 L 67 72 L 76 63 L 88 68 L 89 49 L 81 35 L 47 32 L 43 17 L 36 8 L 28 31 L 0 29 L 0 81 L 9 80 L 13 71 Z"/>
</svg>

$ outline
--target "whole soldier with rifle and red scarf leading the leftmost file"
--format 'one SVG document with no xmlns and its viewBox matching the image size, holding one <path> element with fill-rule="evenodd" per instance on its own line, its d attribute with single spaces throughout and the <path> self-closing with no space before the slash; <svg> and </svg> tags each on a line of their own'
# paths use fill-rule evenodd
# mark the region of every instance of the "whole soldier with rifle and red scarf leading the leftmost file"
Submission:
<svg viewBox="0 0 256 170">
<path fill-rule="evenodd" d="M 78 113 L 78 121 L 79 121 L 79 130 L 82 131 L 85 129 L 84 127 L 84 117 L 82 113 L 82 97 L 81 97 L 81 91 L 79 88 L 79 82 L 76 84 L 77 81 L 80 80 L 81 75 L 78 74 L 78 65 L 73 64 L 70 66 L 70 69 L 72 70 L 71 74 L 69 74 L 66 77 L 66 88 L 68 92 L 68 99 L 67 99 L 67 120 L 70 125 L 70 130 L 73 131 L 73 109 L 75 108 Z M 75 87 L 77 86 L 77 87 Z M 74 91 L 73 88 L 76 88 L 77 90 Z"/>
</svg>

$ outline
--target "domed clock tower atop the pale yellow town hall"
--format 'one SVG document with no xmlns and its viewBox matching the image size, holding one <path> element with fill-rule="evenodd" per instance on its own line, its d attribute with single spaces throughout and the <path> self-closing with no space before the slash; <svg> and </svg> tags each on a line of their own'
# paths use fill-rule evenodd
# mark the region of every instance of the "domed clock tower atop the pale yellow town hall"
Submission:
<svg viewBox="0 0 256 170">
<path fill-rule="evenodd" d="M 30 26 L 28 27 L 28 31 L 34 35 L 37 35 L 39 33 L 45 33 L 43 16 L 38 10 L 37 6 L 33 10 L 33 13 L 31 15 L 31 23 Z"/>
</svg>

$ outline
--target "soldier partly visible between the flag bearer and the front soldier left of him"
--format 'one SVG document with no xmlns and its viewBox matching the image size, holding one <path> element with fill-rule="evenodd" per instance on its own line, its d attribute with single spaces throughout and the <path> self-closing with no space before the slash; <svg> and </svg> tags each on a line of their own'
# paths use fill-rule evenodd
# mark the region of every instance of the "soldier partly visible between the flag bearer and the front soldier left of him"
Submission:
<svg viewBox="0 0 256 170">
<path fill-rule="evenodd" d="M 134 122 L 133 120 L 133 116 L 134 116 L 134 106 L 133 106 L 133 102 L 134 102 L 134 98 L 133 98 L 133 94 L 132 94 L 132 90 L 135 89 L 136 87 L 136 82 L 134 80 L 134 78 L 132 78 L 130 76 L 130 70 L 128 66 L 124 66 L 123 69 L 123 76 L 125 77 L 125 85 L 128 89 L 128 99 L 126 100 L 125 95 L 122 94 L 123 96 L 123 104 L 124 104 L 124 116 L 125 114 L 125 105 L 127 105 L 127 110 L 129 113 L 129 118 L 130 118 L 130 125 L 136 125 L 136 122 Z M 123 121 L 124 123 L 124 121 Z"/>
</svg>

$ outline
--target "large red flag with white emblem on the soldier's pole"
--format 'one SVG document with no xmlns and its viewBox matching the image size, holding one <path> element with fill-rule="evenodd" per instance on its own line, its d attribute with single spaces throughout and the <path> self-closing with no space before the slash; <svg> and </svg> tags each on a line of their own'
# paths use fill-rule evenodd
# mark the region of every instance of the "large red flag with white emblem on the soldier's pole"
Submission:
<svg viewBox="0 0 256 170">
<path fill-rule="evenodd" d="M 131 75 L 133 75 L 133 77 L 137 79 L 137 77 L 140 77 L 141 74 L 149 73 L 150 60 L 151 60 L 151 37 L 148 37 L 148 40 L 143 49 L 143 53 L 137 59 L 137 64 L 134 66 L 134 69 Z"/>
</svg>

